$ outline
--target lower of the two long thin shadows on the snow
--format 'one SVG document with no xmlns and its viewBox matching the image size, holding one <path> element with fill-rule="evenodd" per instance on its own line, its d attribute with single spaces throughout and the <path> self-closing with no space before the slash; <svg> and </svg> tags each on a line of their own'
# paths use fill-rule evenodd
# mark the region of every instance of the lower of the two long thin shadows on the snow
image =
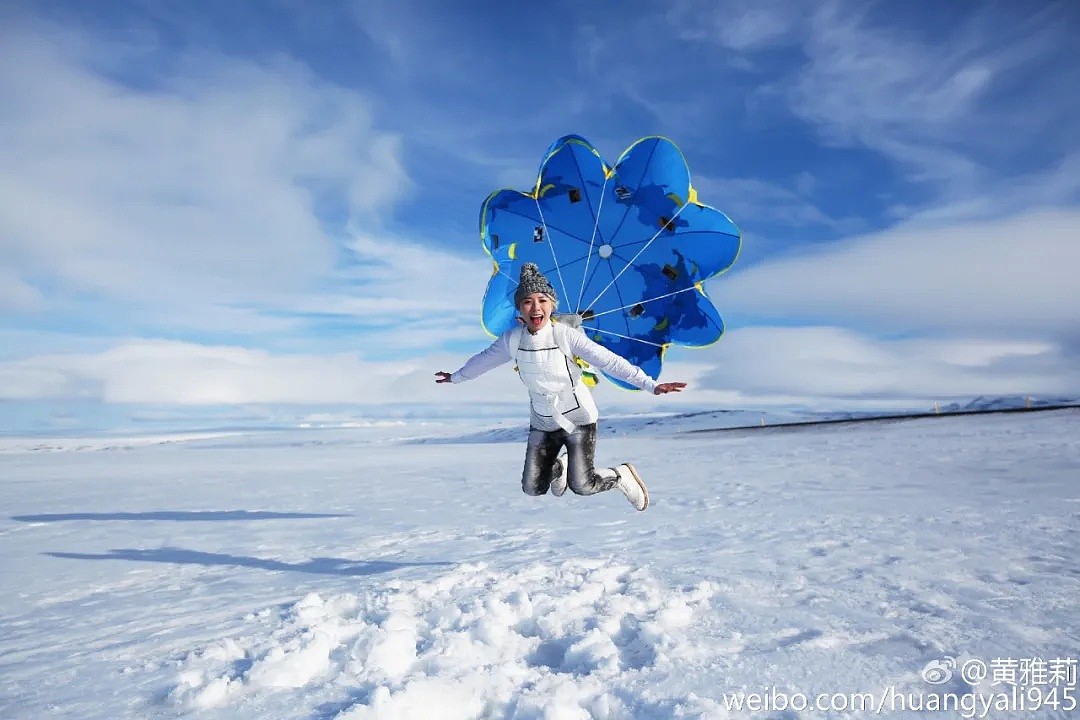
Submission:
<svg viewBox="0 0 1080 720">
<path fill-rule="evenodd" d="M 391 562 L 389 560 L 350 560 L 339 557 L 314 557 L 307 562 L 282 562 L 244 555 L 203 553 L 183 547 L 159 547 L 138 549 L 123 547 L 108 553 L 44 553 L 51 557 L 70 560 L 132 560 L 135 562 L 170 562 L 174 565 L 205 565 L 239 568 L 257 568 L 279 572 L 307 572 L 323 575 L 375 575 L 392 572 L 401 568 L 421 566 L 454 565 L 453 562 Z"/>
</svg>

